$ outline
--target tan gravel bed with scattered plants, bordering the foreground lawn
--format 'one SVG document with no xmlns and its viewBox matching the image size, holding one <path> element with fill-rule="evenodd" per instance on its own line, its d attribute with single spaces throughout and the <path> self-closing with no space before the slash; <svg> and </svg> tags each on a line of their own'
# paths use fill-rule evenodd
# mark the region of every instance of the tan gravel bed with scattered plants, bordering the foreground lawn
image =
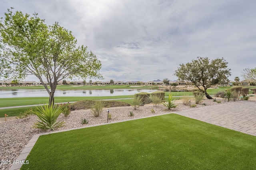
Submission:
<svg viewBox="0 0 256 170">
<path fill-rule="evenodd" d="M 202 104 L 198 104 L 196 107 L 207 107 L 213 105 L 221 105 L 224 104 L 224 99 L 218 98 L 218 101 L 221 101 L 220 104 L 217 102 L 213 102 L 212 100 L 205 99 L 202 103 L 206 104 L 206 106 Z M 112 119 L 109 119 L 108 122 L 117 122 L 124 120 L 131 120 L 136 118 L 148 117 L 152 115 L 161 115 L 166 113 L 172 113 L 174 111 L 180 111 L 184 109 L 195 109 L 196 107 L 184 106 L 181 100 L 175 102 L 178 106 L 170 111 L 166 111 L 166 107 L 162 104 L 155 107 L 152 104 L 147 104 L 139 107 L 137 110 L 134 110 L 132 106 L 126 107 L 111 107 L 104 108 L 102 114 L 99 117 L 94 117 L 90 112 L 90 109 L 84 110 L 75 110 L 70 113 L 67 117 L 64 117 L 63 114 L 60 115 L 59 120 L 65 121 L 63 127 L 56 129 L 71 129 L 75 127 L 88 127 L 92 125 L 100 125 L 103 123 L 107 123 L 107 109 L 110 109 L 110 114 L 112 115 Z M 191 104 L 194 104 L 191 102 Z M 152 113 L 152 109 L 154 109 L 154 113 Z M 130 111 L 134 113 L 134 116 L 130 117 Z M 82 124 L 82 119 L 88 119 L 88 124 Z M 30 116 L 29 119 L 9 119 L 8 121 L 0 121 L 0 161 L 14 161 L 19 156 L 20 152 L 24 149 L 25 145 L 32 138 L 33 135 L 38 133 L 45 133 L 46 131 L 42 131 L 39 129 L 32 128 L 32 125 L 37 120 L 35 115 Z M 0 164 L 0 169 L 9 169 L 11 164 Z"/>
</svg>

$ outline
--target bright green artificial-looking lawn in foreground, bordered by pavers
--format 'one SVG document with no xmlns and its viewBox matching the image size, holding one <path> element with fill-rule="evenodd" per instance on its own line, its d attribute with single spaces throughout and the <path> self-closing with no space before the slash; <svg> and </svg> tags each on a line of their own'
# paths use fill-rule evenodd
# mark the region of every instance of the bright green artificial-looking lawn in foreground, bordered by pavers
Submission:
<svg viewBox="0 0 256 170">
<path fill-rule="evenodd" d="M 255 169 L 256 137 L 176 114 L 40 136 L 22 170 Z"/>
</svg>

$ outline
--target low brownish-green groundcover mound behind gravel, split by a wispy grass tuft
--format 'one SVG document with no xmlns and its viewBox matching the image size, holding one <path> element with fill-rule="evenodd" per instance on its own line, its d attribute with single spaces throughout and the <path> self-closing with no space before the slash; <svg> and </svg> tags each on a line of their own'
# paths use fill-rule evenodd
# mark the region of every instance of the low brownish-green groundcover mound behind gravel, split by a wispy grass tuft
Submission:
<svg viewBox="0 0 256 170">
<path fill-rule="evenodd" d="M 70 105 L 71 110 L 78 110 L 78 109 L 90 109 L 92 104 L 94 104 L 95 100 L 81 100 Z M 104 107 L 122 107 L 122 106 L 131 106 L 126 102 L 119 102 L 119 101 L 112 101 L 107 100 L 104 101 Z"/>
</svg>

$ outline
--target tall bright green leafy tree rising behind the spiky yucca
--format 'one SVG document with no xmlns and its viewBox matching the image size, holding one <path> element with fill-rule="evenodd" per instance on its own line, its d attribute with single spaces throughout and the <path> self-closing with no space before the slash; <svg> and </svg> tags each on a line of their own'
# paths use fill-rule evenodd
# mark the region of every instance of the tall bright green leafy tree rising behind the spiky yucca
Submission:
<svg viewBox="0 0 256 170">
<path fill-rule="evenodd" d="M 50 96 L 49 104 L 54 103 L 60 80 L 102 78 L 100 61 L 87 47 L 77 46 L 71 31 L 58 22 L 46 25 L 38 14 L 30 16 L 12 9 L 0 22 L 0 76 L 21 80 L 35 75 Z"/>
</svg>

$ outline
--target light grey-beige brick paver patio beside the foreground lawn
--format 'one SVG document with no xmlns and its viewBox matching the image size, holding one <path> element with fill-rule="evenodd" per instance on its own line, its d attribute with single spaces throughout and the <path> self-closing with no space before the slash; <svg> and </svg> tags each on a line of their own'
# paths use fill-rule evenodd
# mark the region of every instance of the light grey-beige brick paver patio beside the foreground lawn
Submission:
<svg viewBox="0 0 256 170">
<path fill-rule="evenodd" d="M 256 136 L 256 102 L 237 101 L 174 113 Z"/>
</svg>

